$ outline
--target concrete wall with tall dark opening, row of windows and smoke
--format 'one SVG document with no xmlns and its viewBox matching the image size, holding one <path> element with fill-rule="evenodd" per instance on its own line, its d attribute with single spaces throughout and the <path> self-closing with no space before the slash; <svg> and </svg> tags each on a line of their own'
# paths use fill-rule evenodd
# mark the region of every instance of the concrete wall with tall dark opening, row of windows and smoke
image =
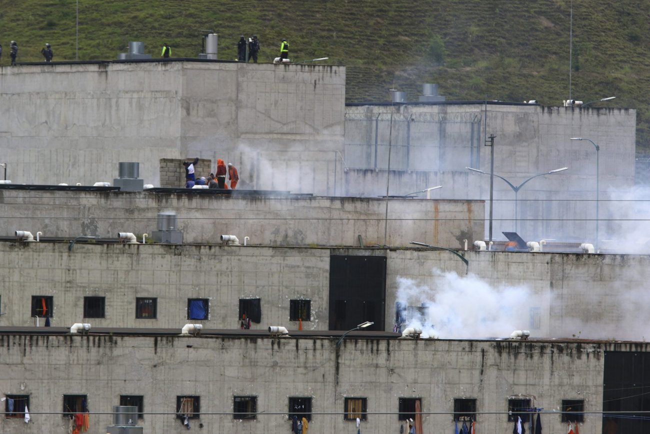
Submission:
<svg viewBox="0 0 650 434">
<path fill-rule="evenodd" d="M 255 329 L 268 325 L 297 329 L 297 323 L 288 321 L 289 300 L 304 298 L 311 299 L 312 309 L 312 321 L 304 323 L 304 328 L 327 330 L 331 254 L 387 257 L 387 331 L 395 324 L 402 278 L 408 278 L 419 289 L 407 299 L 400 298 L 402 303 L 432 305 L 439 294 L 445 294 L 447 301 L 437 303 L 446 303 L 446 310 L 466 318 L 466 329 L 443 337 L 505 337 L 518 329 L 551 338 L 645 337 L 638 314 L 650 308 L 643 295 L 650 279 L 648 256 L 470 251 L 463 252 L 469 260 L 466 268 L 446 251 L 221 245 L 91 243 L 75 244 L 70 251 L 68 243 L 0 243 L 0 280 L 4 282 L 0 311 L 6 312 L 0 316 L 0 325 L 34 325 L 31 296 L 51 295 L 53 324 L 69 326 L 82 321 L 83 297 L 97 295 L 106 297 L 106 318 L 90 320 L 98 327 L 180 329 L 187 323 L 187 299 L 208 298 L 210 318 L 201 321 L 205 327 L 236 329 L 239 299 L 260 298 L 262 322 L 253 324 Z M 451 295 L 440 272 L 461 280 Z M 486 288 L 491 288 L 487 295 Z M 511 289 L 499 292 L 499 288 Z M 513 291 L 522 293 L 521 288 L 525 288 L 525 299 L 513 303 L 517 296 Z M 495 334 L 480 327 L 484 316 L 480 306 L 488 295 L 497 297 L 497 308 L 510 309 L 498 318 L 497 331 L 491 327 L 489 332 Z M 136 297 L 157 297 L 158 318 L 136 319 Z M 495 308 L 485 303 L 486 309 Z M 478 311 L 473 310 L 476 305 Z M 531 310 L 538 312 L 537 321 L 532 321 Z M 441 328 L 443 320 L 443 316 L 434 316 L 428 321 Z"/>
</svg>

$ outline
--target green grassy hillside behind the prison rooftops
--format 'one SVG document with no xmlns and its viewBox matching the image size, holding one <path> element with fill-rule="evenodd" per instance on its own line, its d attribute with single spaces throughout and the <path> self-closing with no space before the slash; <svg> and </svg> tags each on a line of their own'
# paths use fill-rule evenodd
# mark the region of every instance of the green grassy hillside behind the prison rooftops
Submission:
<svg viewBox="0 0 650 434">
<path fill-rule="evenodd" d="M 19 61 L 75 59 L 75 0 L 0 0 L 0 43 Z M 560 105 L 569 96 L 570 0 L 79 0 L 79 59 L 115 59 L 130 40 L 160 54 L 196 57 L 201 29 L 235 59 L 240 34 L 257 34 L 261 61 L 291 44 L 291 59 L 348 66 L 348 101 L 386 101 L 391 87 L 417 100 L 438 83 L 448 100 Z M 650 154 L 650 2 L 573 2 L 572 96 L 638 110 L 637 148 Z"/>
</svg>

